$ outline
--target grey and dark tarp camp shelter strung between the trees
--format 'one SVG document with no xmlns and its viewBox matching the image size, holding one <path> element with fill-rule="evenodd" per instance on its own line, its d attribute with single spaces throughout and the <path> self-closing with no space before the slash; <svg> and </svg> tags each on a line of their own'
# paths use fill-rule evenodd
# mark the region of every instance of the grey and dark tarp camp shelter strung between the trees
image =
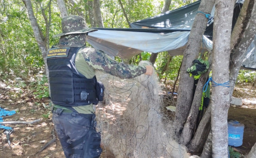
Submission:
<svg viewBox="0 0 256 158">
<path fill-rule="evenodd" d="M 234 8 L 233 24 L 240 13 L 244 0 L 238 0 Z M 111 57 L 130 58 L 143 51 L 159 53 L 168 51 L 171 56 L 183 55 L 190 29 L 193 25 L 201 0 L 176 10 L 139 20 L 130 24 L 129 29 L 97 28 L 89 33 L 87 42 L 94 48 L 106 52 Z M 213 7 L 208 17 L 208 26 L 204 32 L 200 51 L 211 52 L 213 36 Z M 255 40 L 249 47 L 242 65 L 256 69 Z"/>
</svg>

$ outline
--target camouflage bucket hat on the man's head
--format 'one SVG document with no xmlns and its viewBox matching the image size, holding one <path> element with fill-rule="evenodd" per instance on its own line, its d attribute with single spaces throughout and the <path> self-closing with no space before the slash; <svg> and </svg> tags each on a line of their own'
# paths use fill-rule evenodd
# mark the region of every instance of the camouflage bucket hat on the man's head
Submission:
<svg viewBox="0 0 256 158">
<path fill-rule="evenodd" d="M 85 20 L 78 15 L 69 15 L 62 19 L 62 32 L 61 34 L 56 34 L 53 37 L 64 36 L 68 34 L 84 34 L 98 29 L 87 28 Z"/>
</svg>

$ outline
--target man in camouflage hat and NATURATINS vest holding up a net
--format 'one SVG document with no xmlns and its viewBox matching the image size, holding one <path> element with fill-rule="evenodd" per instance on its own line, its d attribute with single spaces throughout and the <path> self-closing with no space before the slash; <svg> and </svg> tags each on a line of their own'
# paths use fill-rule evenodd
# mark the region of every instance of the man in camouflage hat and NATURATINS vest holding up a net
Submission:
<svg viewBox="0 0 256 158">
<path fill-rule="evenodd" d="M 68 99 L 66 103 L 62 103 L 60 101 L 61 104 L 58 104 L 58 101 L 57 103 L 56 101 L 54 102 L 54 96 L 57 95 L 57 97 L 60 98 L 62 96 L 65 96 L 66 92 L 69 93 L 69 90 L 67 88 L 69 85 L 68 81 L 72 82 L 72 80 L 69 80 L 68 77 L 63 75 L 62 71 L 58 70 L 59 65 L 61 65 L 62 68 L 64 67 L 63 69 L 67 71 L 67 67 L 72 67 L 73 63 L 73 76 L 78 76 L 78 79 L 86 78 L 89 80 L 95 78 L 96 70 L 101 70 L 120 78 L 133 78 L 141 74 L 152 75 L 153 67 L 150 65 L 145 67 L 126 65 L 112 60 L 107 54 L 102 51 L 97 51 L 94 48 L 86 48 L 85 43 L 87 34 L 89 32 L 97 31 L 97 29 L 87 28 L 84 19 L 80 16 L 70 15 L 63 18 L 62 30 L 62 34 L 55 35 L 55 37 L 60 36 L 60 40 L 55 48 L 48 51 L 47 56 L 51 88 L 51 100 L 53 101 L 54 107 L 53 123 L 58 134 L 58 138 L 63 147 L 65 156 L 67 158 L 85 158 L 85 155 L 83 155 L 82 153 L 74 152 L 74 149 L 83 149 L 84 145 L 87 144 L 87 141 L 84 140 L 82 143 L 76 146 L 72 146 L 72 143 L 79 139 L 85 138 L 85 136 L 87 135 L 87 132 L 91 126 L 92 117 L 95 113 L 94 107 L 97 102 L 88 102 L 84 105 L 81 104 L 79 101 L 79 104 L 76 105 L 75 103 L 72 103 L 72 101 L 68 101 Z M 68 58 L 68 60 L 70 59 L 71 64 L 68 63 L 65 65 L 65 62 L 67 61 L 63 62 L 63 60 L 65 60 L 65 57 L 68 57 L 68 54 L 72 53 L 71 50 L 74 50 L 73 48 L 78 49 L 75 53 L 73 53 L 73 58 Z M 58 78 L 58 74 L 60 74 L 62 78 Z M 64 80 L 65 82 L 62 80 Z M 62 87 L 58 87 L 58 83 L 61 83 Z M 72 84 L 75 83 L 71 83 L 71 85 Z M 88 95 L 90 94 L 88 93 Z M 68 106 L 66 106 L 65 104 L 67 104 Z M 99 156 L 93 158 L 98 157 Z"/>
</svg>

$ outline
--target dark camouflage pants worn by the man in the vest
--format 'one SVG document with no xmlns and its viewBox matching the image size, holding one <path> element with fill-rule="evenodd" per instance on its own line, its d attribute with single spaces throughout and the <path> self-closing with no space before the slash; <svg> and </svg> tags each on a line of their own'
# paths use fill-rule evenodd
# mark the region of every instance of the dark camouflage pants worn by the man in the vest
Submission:
<svg viewBox="0 0 256 158">
<path fill-rule="evenodd" d="M 59 108 L 53 111 L 53 124 L 66 158 L 82 158 L 81 155 L 71 152 L 71 143 L 87 134 L 91 120 L 92 114 L 67 113 Z M 84 144 L 85 141 L 73 149 L 82 149 Z"/>
</svg>

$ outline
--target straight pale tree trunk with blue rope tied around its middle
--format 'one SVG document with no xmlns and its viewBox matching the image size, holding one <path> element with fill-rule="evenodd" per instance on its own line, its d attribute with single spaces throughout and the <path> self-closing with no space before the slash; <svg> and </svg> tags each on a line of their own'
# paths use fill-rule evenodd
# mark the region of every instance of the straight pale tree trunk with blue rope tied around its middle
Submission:
<svg viewBox="0 0 256 158">
<path fill-rule="evenodd" d="M 216 83 L 229 81 L 229 54 L 233 0 L 216 0 L 213 24 L 213 72 Z M 213 83 L 213 82 L 212 82 Z M 229 87 L 212 87 L 212 140 L 213 158 L 228 158 L 227 112 L 230 106 Z"/>
</svg>

